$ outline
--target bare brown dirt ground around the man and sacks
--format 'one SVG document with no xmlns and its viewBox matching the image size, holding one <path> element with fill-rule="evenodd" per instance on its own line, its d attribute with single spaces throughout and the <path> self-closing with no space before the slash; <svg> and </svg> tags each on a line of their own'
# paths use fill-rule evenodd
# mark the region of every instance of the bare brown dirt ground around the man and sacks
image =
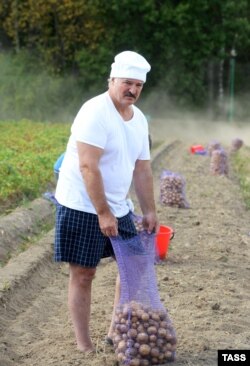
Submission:
<svg viewBox="0 0 250 366">
<path fill-rule="evenodd" d="M 161 130 L 157 138 L 171 144 L 171 135 L 164 134 Z M 161 301 L 177 334 L 178 366 L 216 366 L 218 349 L 250 349 L 250 212 L 232 169 L 228 177 L 213 176 L 208 156 L 190 154 L 191 142 L 206 144 L 210 137 L 180 139 L 153 162 L 160 222 L 175 230 L 168 256 L 155 270 Z M 160 204 L 163 169 L 185 177 L 189 209 Z M 0 366 L 115 366 L 114 351 L 104 343 L 115 262 L 103 261 L 94 280 L 96 354 L 84 356 L 76 350 L 68 316 L 68 268 L 53 264 L 52 244 L 53 230 L 0 269 Z M 33 265 L 36 257 L 40 260 Z"/>
</svg>

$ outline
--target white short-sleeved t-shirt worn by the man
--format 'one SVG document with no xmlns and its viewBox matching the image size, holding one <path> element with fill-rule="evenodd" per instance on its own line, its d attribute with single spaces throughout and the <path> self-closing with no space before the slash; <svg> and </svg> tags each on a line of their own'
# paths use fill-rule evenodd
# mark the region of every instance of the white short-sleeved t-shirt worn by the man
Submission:
<svg viewBox="0 0 250 366">
<path fill-rule="evenodd" d="M 56 199 L 60 204 L 96 213 L 79 169 L 76 141 L 80 141 L 104 150 L 99 169 L 108 205 L 116 217 L 128 213 L 126 197 L 135 162 L 150 159 L 147 120 L 134 105 L 133 111 L 133 118 L 124 121 L 108 92 L 83 104 L 72 124 L 60 169 L 56 188 Z"/>
</svg>

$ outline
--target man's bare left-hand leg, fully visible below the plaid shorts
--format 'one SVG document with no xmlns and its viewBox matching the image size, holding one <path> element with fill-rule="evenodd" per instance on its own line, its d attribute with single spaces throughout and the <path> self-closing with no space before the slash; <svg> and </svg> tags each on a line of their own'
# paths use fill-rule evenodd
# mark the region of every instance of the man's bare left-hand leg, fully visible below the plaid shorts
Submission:
<svg viewBox="0 0 250 366">
<path fill-rule="evenodd" d="M 93 351 L 90 334 L 91 284 L 96 268 L 69 265 L 68 306 L 76 336 L 77 348 L 83 352 Z"/>
</svg>

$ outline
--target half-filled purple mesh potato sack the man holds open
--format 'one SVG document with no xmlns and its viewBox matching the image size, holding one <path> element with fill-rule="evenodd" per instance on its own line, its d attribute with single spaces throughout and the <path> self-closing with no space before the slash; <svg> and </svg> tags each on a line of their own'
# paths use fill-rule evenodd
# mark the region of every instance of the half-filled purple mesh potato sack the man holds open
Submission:
<svg viewBox="0 0 250 366">
<path fill-rule="evenodd" d="M 176 334 L 161 303 L 154 267 L 155 234 L 111 238 L 121 281 L 113 318 L 113 344 L 119 365 L 151 366 L 175 360 Z"/>
</svg>

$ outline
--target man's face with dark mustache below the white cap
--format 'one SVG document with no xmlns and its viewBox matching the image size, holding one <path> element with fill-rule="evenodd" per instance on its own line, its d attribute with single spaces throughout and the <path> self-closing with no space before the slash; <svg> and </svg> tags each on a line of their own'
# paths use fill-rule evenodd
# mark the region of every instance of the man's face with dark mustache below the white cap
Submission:
<svg viewBox="0 0 250 366">
<path fill-rule="evenodd" d="M 122 106 L 134 104 L 142 91 L 143 82 L 136 79 L 113 78 L 110 83 L 110 95 Z"/>
</svg>

